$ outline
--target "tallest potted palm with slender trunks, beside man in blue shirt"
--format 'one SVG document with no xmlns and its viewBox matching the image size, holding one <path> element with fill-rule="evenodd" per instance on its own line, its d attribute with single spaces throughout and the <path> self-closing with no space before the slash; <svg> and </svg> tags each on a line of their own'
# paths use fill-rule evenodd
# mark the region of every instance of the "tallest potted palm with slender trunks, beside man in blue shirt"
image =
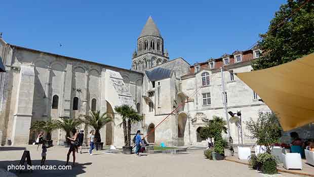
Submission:
<svg viewBox="0 0 314 177">
<path fill-rule="evenodd" d="M 122 117 L 122 123 L 120 126 L 123 126 L 123 135 L 124 135 L 124 144 L 123 153 L 131 154 L 131 124 L 142 120 L 137 111 L 129 105 L 122 105 L 114 107 L 114 111 Z"/>
</svg>

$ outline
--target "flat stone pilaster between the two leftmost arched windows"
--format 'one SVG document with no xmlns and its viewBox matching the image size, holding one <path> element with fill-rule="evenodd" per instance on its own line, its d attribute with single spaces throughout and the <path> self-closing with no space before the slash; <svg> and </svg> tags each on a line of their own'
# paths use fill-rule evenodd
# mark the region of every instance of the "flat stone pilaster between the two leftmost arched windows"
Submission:
<svg viewBox="0 0 314 177">
<path fill-rule="evenodd" d="M 71 93 L 72 93 L 72 63 L 67 63 L 66 73 L 64 77 L 64 87 L 63 87 L 63 109 L 61 113 L 61 117 L 70 117 L 71 110 Z"/>
</svg>

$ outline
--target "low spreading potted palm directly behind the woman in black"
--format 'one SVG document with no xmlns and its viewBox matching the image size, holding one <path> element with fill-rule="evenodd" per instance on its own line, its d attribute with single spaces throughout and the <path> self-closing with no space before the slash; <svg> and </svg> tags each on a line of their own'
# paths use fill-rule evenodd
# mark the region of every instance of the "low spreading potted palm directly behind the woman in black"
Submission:
<svg viewBox="0 0 314 177">
<path fill-rule="evenodd" d="M 70 132 L 73 128 L 76 128 L 78 125 L 80 125 L 83 121 L 80 118 L 61 118 L 62 120 L 58 120 L 58 126 L 62 130 L 65 131 L 65 142 L 64 145 L 66 147 L 69 147 L 70 140 L 66 137 L 70 137 Z"/>
</svg>

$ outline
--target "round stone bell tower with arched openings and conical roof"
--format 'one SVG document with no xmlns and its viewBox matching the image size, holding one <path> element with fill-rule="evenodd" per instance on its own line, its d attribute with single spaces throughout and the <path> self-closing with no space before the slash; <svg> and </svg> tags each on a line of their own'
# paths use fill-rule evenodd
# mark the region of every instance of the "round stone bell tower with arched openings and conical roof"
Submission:
<svg viewBox="0 0 314 177">
<path fill-rule="evenodd" d="M 164 39 L 152 18 L 148 20 L 137 39 L 137 50 L 132 56 L 132 70 L 144 71 L 169 61 Z"/>
</svg>

